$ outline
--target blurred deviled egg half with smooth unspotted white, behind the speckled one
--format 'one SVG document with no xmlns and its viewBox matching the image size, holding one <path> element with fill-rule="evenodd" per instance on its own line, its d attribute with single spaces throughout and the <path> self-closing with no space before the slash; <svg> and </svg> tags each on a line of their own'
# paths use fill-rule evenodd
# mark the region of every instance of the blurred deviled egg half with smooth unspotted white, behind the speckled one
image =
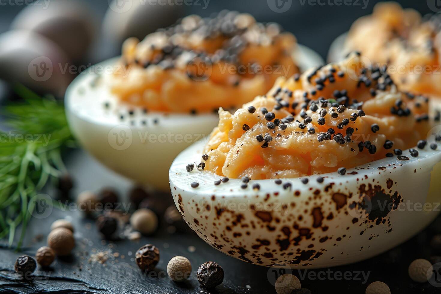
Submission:
<svg viewBox="0 0 441 294">
<path fill-rule="evenodd" d="M 168 169 L 185 147 L 276 78 L 322 64 L 275 23 L 223 11 L 130 38 L 120 58 L 80 74 L 66 94 L 67 118 L 101 163 L 141 184 L 168 190 Z"/>
</svg>

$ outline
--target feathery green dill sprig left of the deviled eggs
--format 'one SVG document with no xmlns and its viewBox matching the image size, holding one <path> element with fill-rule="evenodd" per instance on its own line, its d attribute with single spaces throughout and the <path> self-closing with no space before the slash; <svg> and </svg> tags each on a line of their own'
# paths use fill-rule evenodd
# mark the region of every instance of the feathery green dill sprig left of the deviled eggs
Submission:
<svg viewBox="0 0 441 294">
<path fill-rule="evenodd" d="M 61 149 L 73 140 L 62 104 L 23 86 L 16 92 L 23 102 L 6 106 L 7 130 L 0 131 L 0 239 L 11 247 L 21 224 L 19 249 L 35 208 L 30 200 L 67 172 Z"/>
</svg>

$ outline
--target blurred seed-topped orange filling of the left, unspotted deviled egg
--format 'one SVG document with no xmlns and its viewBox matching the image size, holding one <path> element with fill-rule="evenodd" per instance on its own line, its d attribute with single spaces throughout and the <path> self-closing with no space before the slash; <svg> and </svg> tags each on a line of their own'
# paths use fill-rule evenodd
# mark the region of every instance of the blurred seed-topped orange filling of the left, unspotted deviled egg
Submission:
<svg viewBox="0 0 441 294">
<path fill-rule="evenodd" d="M 266 93 L 277 77 L 299 71 L 291 33 L 248 14 L 191 15 L 175 26 L 123 44 L 111 76 L 123 102 L 164 112 L 213 112 Z"/>
</svg>

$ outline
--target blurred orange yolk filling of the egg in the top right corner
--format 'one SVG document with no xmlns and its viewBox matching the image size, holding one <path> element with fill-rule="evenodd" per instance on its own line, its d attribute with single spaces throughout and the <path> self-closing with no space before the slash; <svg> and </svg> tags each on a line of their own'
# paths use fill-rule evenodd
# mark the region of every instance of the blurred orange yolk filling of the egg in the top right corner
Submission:
<svg viewBox="0 0 441 294">
<path fill-rule="evenodd" d="M 397 3 L 380 3 L 351 27 L 346 49 L 372 63 L 389 63 L 400 89 L 441 96 L 441 17 L 422 18 Z"/>
</svg>

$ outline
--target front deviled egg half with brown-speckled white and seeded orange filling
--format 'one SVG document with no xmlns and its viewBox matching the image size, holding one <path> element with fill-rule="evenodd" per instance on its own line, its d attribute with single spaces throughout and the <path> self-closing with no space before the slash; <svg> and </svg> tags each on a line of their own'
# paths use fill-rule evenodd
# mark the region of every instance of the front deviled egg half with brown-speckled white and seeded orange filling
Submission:
<svg viewBox="0 0 441 294">
<path fill-rule="evenodd" d="M 434 220 L 440 117 L 377 72 L 352 54 L 220 111 L 208 143 L 169 171 L 191 229 L 249 263 L 321 268 L 382 253 Z"/>
</svg>

